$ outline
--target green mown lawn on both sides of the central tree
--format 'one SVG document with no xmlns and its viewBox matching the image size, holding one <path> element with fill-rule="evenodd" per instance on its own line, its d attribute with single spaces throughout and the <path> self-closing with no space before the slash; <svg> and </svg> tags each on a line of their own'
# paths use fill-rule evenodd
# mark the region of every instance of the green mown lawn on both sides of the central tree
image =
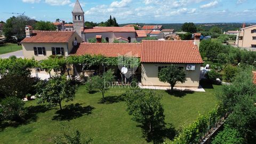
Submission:
<svg viewBox="0 0 256 144">
<path fill-rule="evenodd" d="M 156 90 L 163 95 L 167 127 L 173 125 L 178 130 L 215 106 L 215 93 L 221 86 L 204 88 L 206 92 L 175 92 L 173 95 Z M 1 143 L 53 143 L 55 135 L 70 129 L 78 129 L 93 138 L 92 143 L 147 143 L 139 124 L 131 121 L 127 114 L 125 102 L 119 97 L 123 92 L 125 89 L 119 87 L 110 89 L 106 93 L 107 101 L 102 103 L 101 93 L 88 94 L 85 87 L 80 86 L 74 101 L 63 102 L 62 105 L 66 105 L 63 111 L 59 111 L 59 107 L 47 109 L 37 105 L 36 100 L 28 101 L 26 107 L 31 112 L 27 123 L 1 124 Z"/>
</svg>

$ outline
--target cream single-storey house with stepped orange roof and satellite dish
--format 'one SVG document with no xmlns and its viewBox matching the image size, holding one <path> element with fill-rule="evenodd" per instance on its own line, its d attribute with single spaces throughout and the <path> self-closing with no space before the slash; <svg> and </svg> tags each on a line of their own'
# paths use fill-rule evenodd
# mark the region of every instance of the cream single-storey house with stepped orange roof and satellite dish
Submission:
<svg viewBox="0 0 256 144">
<path fill-rule="evenodd" d="M 200 66 L 203 63 L 197 45 L 194 41 L 142 41 L 142 43 L 81 43 L 71 55 L 101 54 L 105 57 L 118 57 L 118 55 L 133 55 L 141 60 L 141 67 L 135 74 L 141 77 L 141 84 L 148 86 L 170 86 L 169 83 L 160 82 L 158 72 L 161 68 L 171 64 L 186 70 L 187 81 L 176 86 L 198 87 Z M 96 67 L 98 69 L 98 67 Z M 118 67 L 108 67 L 119 75 Z M 100 66 L 102 73 L 105 66 Z M 92 69 L 91 69 L 92 70 Z M 74 70 L 78 71 L 78 70 Z M 93 70 L 95 71 L 95 69 Z"/>
</svg>

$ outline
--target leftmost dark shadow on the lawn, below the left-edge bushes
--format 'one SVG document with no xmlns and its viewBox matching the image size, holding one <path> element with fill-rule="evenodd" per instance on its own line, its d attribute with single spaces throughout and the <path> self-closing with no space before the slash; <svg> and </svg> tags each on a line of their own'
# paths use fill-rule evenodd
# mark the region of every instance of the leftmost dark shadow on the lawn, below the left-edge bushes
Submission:
<svg viewBox="0 0 256 144">
<path fill-rule="evenodd" d="M 50 110 L 45 105 L 38 105 L 38 106 L 30 106 L 26 108 L 27 115 L 24 117 L 23 120 L 19 122 L 0 122 L 0 131 L 3 131 L 6 127 L 18 127 L 19 125 L 28 124 L 30 122 L 36 122 L 38 113 L 45 113 L 45 111 Z"/>
</svg>

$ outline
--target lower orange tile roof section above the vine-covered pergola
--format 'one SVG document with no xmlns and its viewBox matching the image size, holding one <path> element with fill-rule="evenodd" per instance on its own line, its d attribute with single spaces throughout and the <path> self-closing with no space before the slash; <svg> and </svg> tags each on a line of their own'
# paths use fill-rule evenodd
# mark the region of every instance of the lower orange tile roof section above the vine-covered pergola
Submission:
<svg viewBox="0 0 256 144">
<path fill-rule="evenodd" d="M 117 57 L 118 55 L 132 54 L 140 57 L 140 43 L 81 43 L 77 49 L 73 49 L 70 55 L 101 54 L 105 57 Z"/>
</svg>

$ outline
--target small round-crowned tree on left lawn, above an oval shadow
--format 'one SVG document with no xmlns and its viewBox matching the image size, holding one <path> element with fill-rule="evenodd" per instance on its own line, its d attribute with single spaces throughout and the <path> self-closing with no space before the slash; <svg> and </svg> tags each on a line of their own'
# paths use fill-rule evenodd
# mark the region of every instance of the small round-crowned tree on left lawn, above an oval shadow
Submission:
<svg viewBox="0 0 256 144">
<path fill-rule="evenodd" d="M 48 82 L 38 82 L 37 87 L 41 89 L 37 92 L 39 103 L 47 102 L 50 107 L 59 105 L 61 110 L 61 102 L 73 101 L 77 89 L 77 85 L 67 80 L 66 76 L 52 77 Z"/>
</svg>

